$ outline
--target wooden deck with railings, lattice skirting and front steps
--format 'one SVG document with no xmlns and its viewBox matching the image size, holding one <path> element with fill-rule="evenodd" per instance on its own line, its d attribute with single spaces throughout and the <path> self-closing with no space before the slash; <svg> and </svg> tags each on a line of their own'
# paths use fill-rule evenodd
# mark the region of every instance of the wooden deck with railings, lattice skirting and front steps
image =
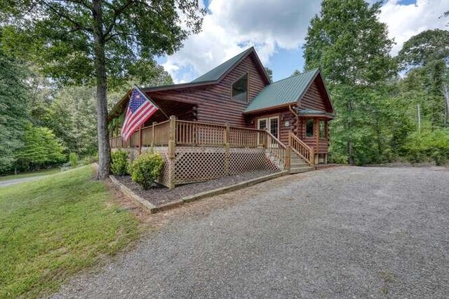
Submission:
<svg viewBox="0 0 449 299">
<path fill-rule="evenodd" d="M 116 136 L 109 144 L 132 152 L 132 158 L 142 151 L 161 153 L 165 163 L 159 183 L 169 188 L 251 170 L 290 169 L 291 155 L 314 165 L 314 149 L 293 134 L 285 145 L 267 130 L 176 120 L 173 116 L 142 127 L 127 142 Z"/>
</svg>

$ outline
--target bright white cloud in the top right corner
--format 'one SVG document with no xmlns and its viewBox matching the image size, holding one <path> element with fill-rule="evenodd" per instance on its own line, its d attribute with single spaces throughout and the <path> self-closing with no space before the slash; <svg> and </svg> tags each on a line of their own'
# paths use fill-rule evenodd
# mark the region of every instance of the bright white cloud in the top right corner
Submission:
<svg viewBox="0 0 449 299">
<path fill-rule="evenodd" d="M 449 11 L 448 0 L 417 0 L 416 4 L 401 5 L 398 0 L 389 0 L 382 6 L 380 21 L 387 23 L 389 38 L 396 45 L 391 50 L 397 55 L 403 43 L 410 37 L 427 29 L 443 29 L 447 18 L 440 18 Z"/>
</svg>

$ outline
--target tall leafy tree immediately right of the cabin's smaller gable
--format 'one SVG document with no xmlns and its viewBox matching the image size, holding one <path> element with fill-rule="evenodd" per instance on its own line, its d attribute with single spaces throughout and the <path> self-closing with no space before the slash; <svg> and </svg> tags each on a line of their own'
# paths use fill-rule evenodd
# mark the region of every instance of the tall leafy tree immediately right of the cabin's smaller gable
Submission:
<svg viewBox="0 0 449 299">
<path fill-rule="evenodd" d="M 387 25 L 379 22 L 380 3 L 363 0 L 324 0 L 309 25 L 304 44 L 305 69 L 320 67 L 329 83 L 337 119 L 332 122 L 333 150 L 346 155 L 350 165 L 375 144 L 372 118 L 383 115 L 373 101 L 378 85 L 394 75 Z M 378 123 L 381 121 L 376 120 Z M 368 144 L 367 144 L 368 142 Z M 376 146 L 377 147 L 377 146 Z"/>
</svg>

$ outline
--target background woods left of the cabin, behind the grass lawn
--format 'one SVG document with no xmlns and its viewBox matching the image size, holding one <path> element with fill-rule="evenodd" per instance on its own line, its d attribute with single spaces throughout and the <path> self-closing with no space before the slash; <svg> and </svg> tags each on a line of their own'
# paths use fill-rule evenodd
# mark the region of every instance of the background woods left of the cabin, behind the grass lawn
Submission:
<svg viewBox="0 0 449 299">
<path fill-rule="evenodd" d="M 80 162 L 97 160 L 95 87 L 45 77 L 33 62 L 7 55 L 4 46 L 0 41 L 0 174 L 59 166 L 70 153 Z M 129 78 L 109 90 L 109 109 L 136 83 L 173 83 L 156 62 L 147 68 L 146 81 Z"/>
</svg>

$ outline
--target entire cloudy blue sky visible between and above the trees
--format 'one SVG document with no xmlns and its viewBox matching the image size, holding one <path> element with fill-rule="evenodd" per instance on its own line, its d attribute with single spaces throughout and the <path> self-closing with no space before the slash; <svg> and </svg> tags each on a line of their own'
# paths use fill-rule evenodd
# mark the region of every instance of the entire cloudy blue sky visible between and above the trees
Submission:
<svg viewBox="0 0 449 299">
<path fill-rule="evenodd" d="M 373 3 L 375 0 L 369 0 Z M 201 33 L 189 36 L 175 55 L 157 61 L 185 83 L 255 46 L 262 64 L 278 81 L 302 71 L 302 45 L 309 21 L 320 11 L 319 0 L 202 0 L 208 9 Z M 379 19 L 388 26 L 397 55 L 405 41 L 426 29 L 448 29 L 449 0 L 385 0 Z"/>
</svg>

